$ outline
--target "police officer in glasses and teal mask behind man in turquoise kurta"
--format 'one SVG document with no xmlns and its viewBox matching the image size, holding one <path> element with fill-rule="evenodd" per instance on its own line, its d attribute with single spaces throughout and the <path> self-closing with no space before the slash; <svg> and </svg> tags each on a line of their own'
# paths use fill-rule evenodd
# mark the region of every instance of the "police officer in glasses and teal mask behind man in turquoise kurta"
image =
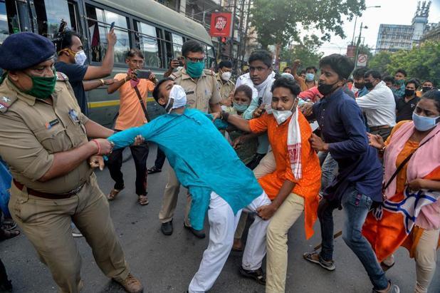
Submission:
<svg viewBox="0 0 440 293">
<path fill-rule="evenodd" d="M 184 88 L 187 94 L 187 107 L 197 108 L 203 112 L 211 113 L 221 110 L 219 86 L 217 85 L 215 73 L 204 69 L 205 55 L 204 48 L 200 43 L 194 40 L 186 41 L 182 46 L 182 62 L 184 67 L 172 73 L 169 77 L 174 82 Z M 169 168 L 168 182 L 164 190 L 164 199 L 162 209 L 159 212 L 159 220 L 162 222 L 162 233 L 172 235 L 172 217 L 177 205 L 177 196 L 179 195 L 180 183 L 172 168 Z M 187 197 L 187 208 L 185 213 L 184 227 L 191 230 L 194 235 L 204 238 L 203 230 L 194 230 L 189 225 L 187 219 L 191 197 Z"/>
</svg>

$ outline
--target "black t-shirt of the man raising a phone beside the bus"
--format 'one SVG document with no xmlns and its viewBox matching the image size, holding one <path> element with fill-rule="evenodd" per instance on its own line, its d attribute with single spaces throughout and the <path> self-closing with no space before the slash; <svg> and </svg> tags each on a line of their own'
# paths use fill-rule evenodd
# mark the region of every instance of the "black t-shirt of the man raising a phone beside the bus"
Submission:
<svg viewBox="0 0 440 293">
<path fill-rule="evenodd" d="M 85 96 L 83 80 L 85 76 L 85 72 L 87 72 L 88 66 L 81 66 L 78 64 L 68 64 L 61 61 L 55 63 L 56 71 L 62 72 L 66 74 L 69 78 L 70 85 L 73 88 L 73 92 L 75 93 L 76 101 L 80 105 L 81 112 L 83 112 L 86 116 L 89 115 L 88 111 L 88 101 Z"/>
</svg>

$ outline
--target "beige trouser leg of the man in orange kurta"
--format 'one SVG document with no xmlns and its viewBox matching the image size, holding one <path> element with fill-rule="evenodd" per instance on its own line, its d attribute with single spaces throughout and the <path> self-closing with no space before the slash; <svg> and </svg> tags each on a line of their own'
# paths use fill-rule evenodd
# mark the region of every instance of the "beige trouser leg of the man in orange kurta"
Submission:
<svg viewBox="0 0 440 293">
<path fill-rule="evenodd" d="M 290 193 L 273 215 L 267 232 L 266 293 L 286 291 L 287 233 L 304 211 L 304 198 Z"/>
</svg>

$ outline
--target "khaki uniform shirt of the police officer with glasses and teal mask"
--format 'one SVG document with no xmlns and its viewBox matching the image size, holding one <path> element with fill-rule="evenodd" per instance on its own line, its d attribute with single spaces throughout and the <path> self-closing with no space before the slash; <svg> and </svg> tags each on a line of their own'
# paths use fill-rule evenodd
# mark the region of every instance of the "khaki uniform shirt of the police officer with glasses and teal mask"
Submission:
<svg viewBox="0 0 440 293">
<path fill-rule="evenodd" d="M 216 104 L 221 101 L 215 73 L 209 69 L 204 69 L 197 81 L 187 74 L 185 68 L 172 73 L 169 77 L 184 88 L 187 94 L 188 108 L 197 108 L 204 113 L 208 113 L 209 104 Z"/>
</svg>

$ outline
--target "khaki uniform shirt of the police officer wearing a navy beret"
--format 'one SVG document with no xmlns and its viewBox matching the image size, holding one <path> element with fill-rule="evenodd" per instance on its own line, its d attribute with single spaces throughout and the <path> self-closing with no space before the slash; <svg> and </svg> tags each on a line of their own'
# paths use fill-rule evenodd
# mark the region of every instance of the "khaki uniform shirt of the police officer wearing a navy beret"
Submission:
<svg viewBox="0 0 440 293">
<path fill-rule="evenodd" d="M 6 78 L 0 86 L 0 156 L 19 183 L 40 192 L 62 194 L 89 180 L 85 160 L 70 173 L 46 182 L 38 179 L 51 168 L 55 153 L 87 143 L 85 123 L 68 78 L 57 73 L 52 105 L 19 91 Z"/>
</svg>

